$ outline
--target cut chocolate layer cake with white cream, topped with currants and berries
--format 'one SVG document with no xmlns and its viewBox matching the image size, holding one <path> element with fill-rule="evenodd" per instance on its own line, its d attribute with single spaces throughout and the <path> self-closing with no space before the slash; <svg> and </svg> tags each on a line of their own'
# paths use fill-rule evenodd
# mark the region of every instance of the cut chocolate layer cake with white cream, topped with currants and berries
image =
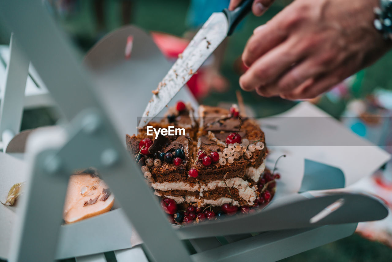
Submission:
<svg viewBox="0 0 392 262">
<path fill-rule="evenodd" d="M 169 108 L 167 117 L 148 126 L 185 128 L 178 136 L 126 136 L 129 152 L 141 165 L 154 194 L 203 207 L 230 203 L 254 206 L 264 172 L 264 133 L 253 119 L 200 106 L 198 118 L 187 106 Z"/>
</svg>

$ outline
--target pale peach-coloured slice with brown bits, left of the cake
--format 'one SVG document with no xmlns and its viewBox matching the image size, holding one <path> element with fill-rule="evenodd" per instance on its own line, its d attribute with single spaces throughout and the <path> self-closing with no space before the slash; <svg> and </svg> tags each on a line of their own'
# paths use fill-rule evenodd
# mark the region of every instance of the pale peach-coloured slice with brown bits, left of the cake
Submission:
<svg viewBox="0 0 392 262">
<path fill-rule="evenodd" d="M 63 218 L 74 223 L 110 211 L 114 195 L 105 182 L 94 173 L 71 175 L 65 196 Z"/>
</svg>

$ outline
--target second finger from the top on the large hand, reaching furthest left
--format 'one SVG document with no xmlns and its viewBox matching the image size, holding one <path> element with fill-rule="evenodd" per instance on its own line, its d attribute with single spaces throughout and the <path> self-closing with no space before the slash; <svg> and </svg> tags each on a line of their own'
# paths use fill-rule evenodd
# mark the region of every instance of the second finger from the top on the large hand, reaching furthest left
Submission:
<svg viewBox="0 0 392 262">
<path fill-rule="evenodd" d="M 294 63 L 303 59 L 303 53 L 293 51 L 294 44 L 294 41 L 283 42 L 256 60 L 240 77 L 241 88 L 245 91 L 263 89 L 263 86 L 276 81 Z"/>
</svg>

